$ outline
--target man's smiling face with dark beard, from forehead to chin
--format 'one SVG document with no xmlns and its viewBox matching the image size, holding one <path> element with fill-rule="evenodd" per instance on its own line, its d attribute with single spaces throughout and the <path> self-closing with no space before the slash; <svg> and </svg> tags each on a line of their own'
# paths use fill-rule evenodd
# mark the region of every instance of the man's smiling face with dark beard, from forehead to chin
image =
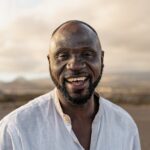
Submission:
<svg viewBox="0 0 150 150">
<path fill-rule="evenodd" d="M 66 101 L 83 105 L 90 99 L 101 78 L 101 58 L 98 37 L 89 27 L 74 25 L 57 31 L 51 40 L 49 68 Z"/>
</svg>

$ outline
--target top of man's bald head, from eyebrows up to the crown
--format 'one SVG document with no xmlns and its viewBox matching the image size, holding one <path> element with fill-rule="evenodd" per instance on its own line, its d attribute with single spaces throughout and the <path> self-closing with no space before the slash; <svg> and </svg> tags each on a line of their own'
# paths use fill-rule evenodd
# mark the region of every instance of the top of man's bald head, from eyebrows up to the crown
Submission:
<svg viewBox="0 0 150 150">
<path fill-rule="evenodd" d="M 56 44 L 62 43 L 74 48 L 80 46 L 81 43 L 96 43 L 95 48 L 101 50 L 101 44 L 96 31 L 90 25 L 76 20 L 67 21 L 56 28 L 51 37 L 50 49 L 56 46 Z"/>
</svg>

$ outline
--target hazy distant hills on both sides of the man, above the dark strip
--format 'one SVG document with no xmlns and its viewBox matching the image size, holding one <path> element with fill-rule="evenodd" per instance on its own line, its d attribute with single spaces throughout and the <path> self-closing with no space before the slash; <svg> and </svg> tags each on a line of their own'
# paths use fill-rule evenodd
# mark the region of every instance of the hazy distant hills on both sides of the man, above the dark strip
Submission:
<svg viewBox="0 0 150 150">
<path fill-rule="evenodd" d="M 12 82 L 0 82 L 0 96 L 4 94 L 42 94 L 54 85 L 50 78 L 27 80 L 19 77 Z M 103 74 L 97 87 L 102 96 L 123 101 L 150 102 L 150 73 L 109 73 Z"/>
</svg>

